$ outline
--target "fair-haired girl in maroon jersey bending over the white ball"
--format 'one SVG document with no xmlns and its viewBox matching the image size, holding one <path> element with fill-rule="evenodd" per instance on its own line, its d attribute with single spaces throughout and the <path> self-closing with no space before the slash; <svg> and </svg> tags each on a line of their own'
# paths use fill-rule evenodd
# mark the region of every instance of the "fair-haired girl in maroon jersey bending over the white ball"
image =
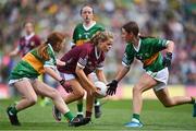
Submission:
<svg viewBox="0 0 196 131">
<path fill-rule="evenodd" d="M 65 103 L 70 104 L 81 99 L 84 97 L 85 91 L 87 92 L 84 124 L 90 121 L 94 96 L 98 92 L 88 74 L 96 71 L 98 80 L 107 83 L 102 68 L 105 53 L 110 50 L 112 41 L 111 33 L 99 32 L 88 43 L 73 48 L 61 58 L 65 66 L 59 67 L 58 70 L 62 72 L 73 88 L 73 92 L 63 98 Z"/>
</svg>

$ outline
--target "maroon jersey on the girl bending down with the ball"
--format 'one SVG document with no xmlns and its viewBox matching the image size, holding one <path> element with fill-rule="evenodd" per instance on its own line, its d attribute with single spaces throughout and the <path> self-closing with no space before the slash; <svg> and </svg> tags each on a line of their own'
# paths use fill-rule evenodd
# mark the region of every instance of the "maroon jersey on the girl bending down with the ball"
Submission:
<svg viewBox="0 0 196 131">
<path fill-rule="evenodd" d="M 71 49 L 61 58 L 61 60 L 66 62 L 66 66 L 58 67 L 60 72 L 75 74 L 76 66 L 78 66 L 83 68 L 85 74 L 89 74 L 96 69 L 102 69 L 105 53 L 102 51 L 98 53 L 97 47 L 93 44 L 86 43 Z"/>
</svg>

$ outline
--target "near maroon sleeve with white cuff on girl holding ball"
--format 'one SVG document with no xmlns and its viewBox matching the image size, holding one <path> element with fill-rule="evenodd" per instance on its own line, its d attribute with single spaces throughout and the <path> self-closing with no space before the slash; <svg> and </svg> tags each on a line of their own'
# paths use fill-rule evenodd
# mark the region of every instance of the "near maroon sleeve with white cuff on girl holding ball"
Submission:
<svg viewBox="0 0 196 131">
<path fill-rule="evenodd" d="M 77 66 L 84 69 L 87 64 L 87 60 L 88 60 L 88 50 L 83 49 L 82 52 L 79 53 Z"/>
</svg>

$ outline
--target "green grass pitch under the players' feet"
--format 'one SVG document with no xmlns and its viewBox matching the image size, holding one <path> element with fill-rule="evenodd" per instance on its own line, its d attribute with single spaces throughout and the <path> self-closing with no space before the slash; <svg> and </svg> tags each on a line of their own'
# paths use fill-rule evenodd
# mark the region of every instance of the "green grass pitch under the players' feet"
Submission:
<svg viewBox="0 0 196 131">
<path fill-rule="evenodd" d="M 195 130 L 196 118 L 192 118 L 192 105 L 164 108 L 158 100 L 144 100 L 140 119 L 145 124 L 140 129 L 125 128 L 131 120 L 131 100 L 111 100 L 102 106 L 103 115 L 93 118 L 93 124 L 69 127 L 65 121 L 56 122 L 51 115 L 51 105 L 40 107 L 38 104 L 19 114 L 21 127 L 10 124 L 5 108 L 15 99 L 0 100 L 0 130 Z M 75 112 L 75 104 L 70 105 Z"/>
</svg>

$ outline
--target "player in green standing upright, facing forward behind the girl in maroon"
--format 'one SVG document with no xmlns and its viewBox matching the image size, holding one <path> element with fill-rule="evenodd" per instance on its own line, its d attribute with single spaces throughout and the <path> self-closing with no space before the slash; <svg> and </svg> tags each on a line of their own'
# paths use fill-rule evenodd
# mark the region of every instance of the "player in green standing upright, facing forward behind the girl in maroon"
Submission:
<svg viewBox="0 0 196 131">
<path fill-rule="evenodd" d="M 94 9 L 89 4 L 81 9 L 81 16 L 83 23 L 77 24 L 74 29 L 73 41 L 71 43 L 72 48 L 88 41 L 97 32 L 105 31 L 105 27 L 94 20 Z M 90 81 L 94 81 L 96 74 L 93 72 L 88 78 L 90 78 Z M 57 121 L 61 121 L 61 114 L 56 108 L 53 108 L 53 115 Z M 95 98 L 95 118 L 100 116 L 100 103 Z M 77 117 L 83 118 L 83 98 L 77 103 Z"/>
</svg>

